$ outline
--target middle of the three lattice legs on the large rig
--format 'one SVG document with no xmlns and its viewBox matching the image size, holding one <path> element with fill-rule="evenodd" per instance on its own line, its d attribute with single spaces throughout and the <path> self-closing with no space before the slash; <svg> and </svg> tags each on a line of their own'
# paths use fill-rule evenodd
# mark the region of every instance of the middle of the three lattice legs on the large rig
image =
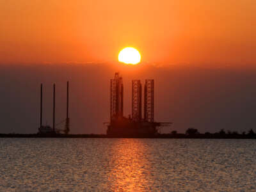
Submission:
<svg viewBox="0 0 256 192">
<path fill-rule="evenodd" d="M 141 120 L 141 83 L 132 80 L 132 120 Z"/>
</svg>

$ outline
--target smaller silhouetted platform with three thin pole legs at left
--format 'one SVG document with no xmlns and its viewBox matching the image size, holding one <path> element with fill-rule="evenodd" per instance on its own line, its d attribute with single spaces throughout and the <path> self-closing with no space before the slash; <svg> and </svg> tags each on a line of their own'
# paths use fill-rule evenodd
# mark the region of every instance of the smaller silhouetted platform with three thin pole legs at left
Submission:
<svg viewBox="0 0 256 192">
<path fill-rule="evenodd" d="M 43 84 L 41 83 L 40 92 L 40 127 L 38 128 L 38 134 L 45 136 L 54 136 L 57 134 L 68 134 L 69 128 L 69 116 L 68 116 L 68 100 L 69 100 L 69 84 L 67 81 L 67 113 L 65 120 L 61 121 L 57 125 L 55 124 L 55 83 L 53 84 L 53 108 L 52 108 L 52 127 L 50 125 L 42 125 L 42 114 L 43 114 Z M 65 123 L 64 129 L 58 129 L 56 126 Z"/>
</svg>

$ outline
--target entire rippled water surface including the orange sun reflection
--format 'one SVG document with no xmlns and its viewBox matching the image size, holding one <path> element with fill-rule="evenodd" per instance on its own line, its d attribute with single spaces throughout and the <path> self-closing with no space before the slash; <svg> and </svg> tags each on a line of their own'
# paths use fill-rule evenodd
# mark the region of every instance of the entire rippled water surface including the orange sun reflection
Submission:
<svg viewBox="0 0 256 192">
<path fill-rule="evenodd" d="M 0 138 L 0 191 L 255 191 L 255 140 Z"/>
</svg>

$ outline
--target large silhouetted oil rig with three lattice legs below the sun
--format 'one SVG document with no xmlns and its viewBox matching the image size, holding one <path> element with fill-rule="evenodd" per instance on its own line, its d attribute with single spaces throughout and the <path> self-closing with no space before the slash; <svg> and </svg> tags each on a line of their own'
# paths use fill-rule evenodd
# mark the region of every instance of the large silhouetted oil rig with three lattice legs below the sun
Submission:
<svg viewBox="0 0 256 192">
<path fill-rule="evenodd" d="M 125 117 L 124 85 L 122 77 L 115 73 L 110 80 L 110 122 L 107 134 L 113 137 L 154 137 L 159 127 L 170 122 L 154 122 L 154 79 L 146 79 L 144 85 L 144 117 L 142 118 L 142 86 L 140 80 L 132 80 L 132 116 Z"/>
</svg>

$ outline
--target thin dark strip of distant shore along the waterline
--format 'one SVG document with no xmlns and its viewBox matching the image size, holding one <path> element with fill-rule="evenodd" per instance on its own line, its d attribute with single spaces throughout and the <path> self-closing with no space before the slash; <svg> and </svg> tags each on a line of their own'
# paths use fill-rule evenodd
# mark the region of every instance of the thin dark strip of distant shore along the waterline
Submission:
<svg viewBox="0 0 256 192">
<path fill-rule="evenodd" d="M 243 134 L 158 134 L 156 136 L 109 136 L 107 134 L 0 134 L 0 138 L 157 138 L 157 139 L 256 139 Z"/>
</svg>

